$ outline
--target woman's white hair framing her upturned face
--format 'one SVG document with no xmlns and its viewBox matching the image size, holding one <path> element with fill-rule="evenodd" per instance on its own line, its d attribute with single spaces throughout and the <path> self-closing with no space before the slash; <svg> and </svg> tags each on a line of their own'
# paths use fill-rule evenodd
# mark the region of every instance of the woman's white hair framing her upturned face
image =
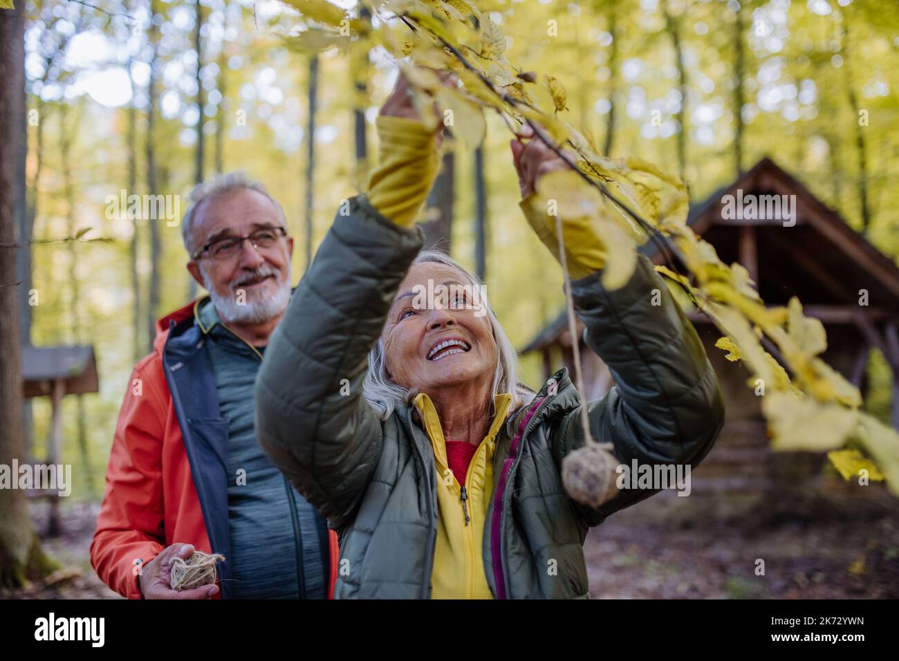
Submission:
<svg viewBox="0 0 899 661">
<path fill-rule="evenodd" d="M 458 262 L 449 255 L 441 253 L 437 250 L 424 250 L 415 257 L 414 264 L 443 264 L 459 272 L 467 284 L 482 290 L 480 281 L 470 272 L 467 272 Z M 463 282 L 465 284 L 465 282 Z M 481 303 L 484 305 L 485 314 L 493 328 L 494 341 L 496 342 L 496 369 L 494 371 L 494 381 L 491 389 L 492 396 L 495 397 L 499 393 L 512 393 L 512 405 L 509 407 L 511 414 L 516 410 L 522 399 L 533 396 L 529 389 L 521 387 L 516 380 L 518 354 L 512 346 L 509 337 L 503 331 L 496 319 L 493 308 L 486 299 L 486 295 L 482 294 Z M 387 356 L 385 354 L 384 336 L 378 338 L 369 352 L 369 372 L 365 376 L 362 383 L 362 396 L 368 400 L 369 405 L 375 410 L 375 413 L 381 420 L 386 420 L 401 404 L 410 404 L 413 397 L 418 393 L 418 389 L 406 389 L 400 386 L 387 375 Z M 491 411 L 494 412 L 493 397 L 491 397 Z"/>
</svg>

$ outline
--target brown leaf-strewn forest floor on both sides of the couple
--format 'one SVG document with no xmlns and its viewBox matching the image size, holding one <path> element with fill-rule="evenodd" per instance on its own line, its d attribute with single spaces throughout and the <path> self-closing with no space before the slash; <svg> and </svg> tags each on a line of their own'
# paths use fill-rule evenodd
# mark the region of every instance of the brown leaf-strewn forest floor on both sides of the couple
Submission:
<svg viewBox="0 0 899 661">
<path fill-rule="evenodd" d="M 647 521 L 636 505 L 587 537 L 584 551 L 593 598 L 897 598 L 899 512 L 875 518 L 808 521 L 746 517 L 734 523 Z M 31 504 L 38 531 L 48 504 Z M 90 564 L 99 504 L 60 509 L 62 533 L 44 549 L 64 568 L 3 598 L 118 599 Z M 645 512 L 645 511 L 644 511 Z M 749 525 L 746 521 L 755 521 Z M 758 559 L 764 576 L 756 576 Z"/>
</svg>

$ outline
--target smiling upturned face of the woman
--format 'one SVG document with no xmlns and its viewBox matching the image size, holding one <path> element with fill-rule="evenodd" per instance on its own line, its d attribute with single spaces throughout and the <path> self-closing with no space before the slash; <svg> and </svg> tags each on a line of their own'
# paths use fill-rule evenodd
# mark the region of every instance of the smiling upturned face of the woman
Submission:
<svg viewBox="0 0 899 661">
<path fill-rule="evenodd" d="M 462 273 L 446 264 L 424 262 L 409 269 L 383 331 L 392 380 L 429 395 L 476 381 L 490 387 L 497 347 L 485 301 L 472 289 Z M 428 291 L 434 292 L 433 299 Z M 441 298 L 441 291 L 450 295 Z"/>
</svg>

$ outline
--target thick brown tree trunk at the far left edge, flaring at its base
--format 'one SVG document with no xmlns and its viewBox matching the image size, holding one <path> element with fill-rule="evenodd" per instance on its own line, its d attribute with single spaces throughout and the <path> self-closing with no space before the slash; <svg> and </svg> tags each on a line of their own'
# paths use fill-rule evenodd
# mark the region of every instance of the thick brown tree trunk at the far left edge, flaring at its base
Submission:
<svg viewBox="0 0 899 661">
<path fill-rule="evenodd" d="M 15 208 L 24 109 L 24 3 L 0 11 L 0 464 L 27 461 L 22 438 L 22 353 Z M 20 587 L 56 568 L 40 548 L 22 489 L 0 489 L 0 587 Z"/>
</svg>

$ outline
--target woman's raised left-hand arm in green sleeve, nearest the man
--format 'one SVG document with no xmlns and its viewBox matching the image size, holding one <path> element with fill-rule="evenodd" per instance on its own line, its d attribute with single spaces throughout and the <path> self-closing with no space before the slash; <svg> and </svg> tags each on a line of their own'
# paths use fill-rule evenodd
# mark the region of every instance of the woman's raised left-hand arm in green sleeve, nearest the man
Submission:
<svg viewBox="0 0 899 661">
<path fill-rule="evenodd" d="M 437 172 L 439 133 L 414 119 L 405 78 L 378 115 L 380 163 L 344 201 L 271 335 L 256 378 L 263 450 L 335 528 L 352 518 L 381 453 L 362 397 L 368 355 L 424 242 L 414 221 Z"/>
</svg>

